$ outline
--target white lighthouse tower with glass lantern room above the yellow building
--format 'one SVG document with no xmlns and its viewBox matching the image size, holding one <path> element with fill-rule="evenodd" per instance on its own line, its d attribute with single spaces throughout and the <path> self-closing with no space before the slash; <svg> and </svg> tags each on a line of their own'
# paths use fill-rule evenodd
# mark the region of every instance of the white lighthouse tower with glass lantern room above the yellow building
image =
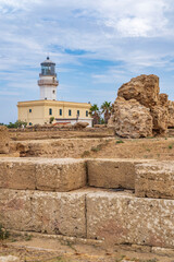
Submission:
<svg viewBox="0 0 174 262">
<path fill-rule="evenodd" d="M 40 63 L 41 73 L 39 74 L 38 85 L 40 86 L 41 100 L 57 100 L 57 86 L 59 82 L 55 74 L 55 63 L 49 57 Z"/>
</svg>

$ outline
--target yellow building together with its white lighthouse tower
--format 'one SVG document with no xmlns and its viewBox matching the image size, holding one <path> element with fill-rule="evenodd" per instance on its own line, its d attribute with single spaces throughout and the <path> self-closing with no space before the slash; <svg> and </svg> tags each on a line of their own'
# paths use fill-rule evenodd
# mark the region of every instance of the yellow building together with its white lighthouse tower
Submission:
<svg viewBox="0 0 174 262">
<path fill-rule="evenodd" d="M 90 103 L 73 103 L 57 100 L 57 86 L 59 82 L 55 74 L 55 63 L 49 57 L 41 63 L 41 73 L 38 85 L 40 86 L 40 100 L 18 102 L 18 120 L 28 126 L 45 124 L 54 118 L 58 123 L 88 122 L 92 126 L 89 116 Z"/>
</svg>

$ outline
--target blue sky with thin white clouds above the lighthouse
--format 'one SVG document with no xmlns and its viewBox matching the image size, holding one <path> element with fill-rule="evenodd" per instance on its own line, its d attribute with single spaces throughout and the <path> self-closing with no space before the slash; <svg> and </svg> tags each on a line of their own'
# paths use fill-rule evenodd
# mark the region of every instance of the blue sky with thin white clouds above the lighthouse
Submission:
<svg viewBox="0 0 174 262">
<path fill-rule="evenodd" d="M 0 0 L 0 122 L 39 99 L 40 62 L 57 63 L 58 99 L 114 102 L 139 74 L 174 99 L 173 0 Z"/>
</svg>

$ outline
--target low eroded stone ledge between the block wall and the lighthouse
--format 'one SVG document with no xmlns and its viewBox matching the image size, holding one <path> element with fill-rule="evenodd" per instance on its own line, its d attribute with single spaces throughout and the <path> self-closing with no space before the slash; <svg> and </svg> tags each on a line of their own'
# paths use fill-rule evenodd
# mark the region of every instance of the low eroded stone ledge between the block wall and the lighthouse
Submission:
<svg viewBox="0 0 174 262">
<path fill-rule="evenodd" d="M 111 135 L 113 135 L 112 130 L 111 133 Z M 20 155 L 22 157 L 79 158 L 85 151 L 90 151 L 92 146 L 98 146 L 99 144 L 104 143 L 109 138 L 73 138 L 58 140 L 30 140 L 22 141 L 20 143 L 14 141 L 13 143 L 11 143 L 11 145 L 13 148 L 20 151 Z"/>
</svg>

